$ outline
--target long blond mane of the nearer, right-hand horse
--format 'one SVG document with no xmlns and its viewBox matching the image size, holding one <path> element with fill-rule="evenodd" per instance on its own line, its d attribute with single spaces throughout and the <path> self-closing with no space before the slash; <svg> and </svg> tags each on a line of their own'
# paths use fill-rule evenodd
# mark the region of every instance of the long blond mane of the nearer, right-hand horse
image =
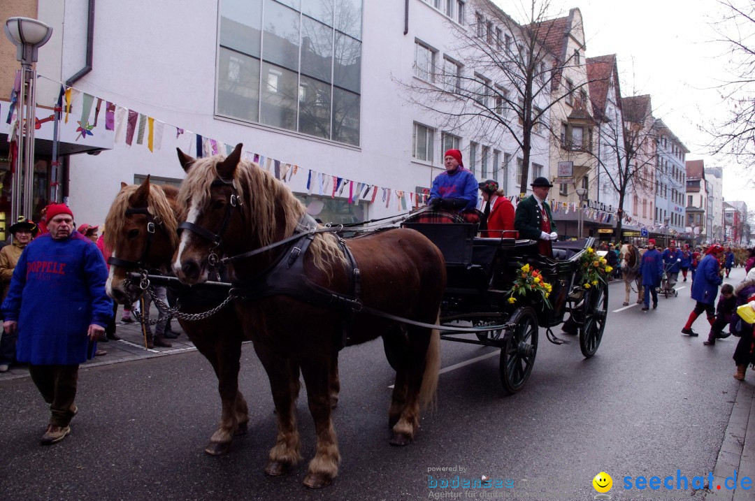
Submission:
<svg viewBox="0 0 755 501">
<path fill-rule="evenodd" d="M 214 155 L 194 161 L 178 192 L 178 204 L 183 207 L 182 219 L 186 219 L 186 207 L 205 207 L 208 204 L 211 184 L 220 177 L 217 164 L 225 158 Z M 244 202 L 242 209 L 245 217 L 248 221 L 254 221 L 247 228 L 247 234 L 257 238 L 260 247 L 275 241 L 276 210 L 284 214 L 285 235 L 294 234 L 299 220 L 307 212 L 307 207 L 288 186 L 254 162 L 243 158 L 239 161 L 233 171 L 233 185 Z M 315 266 L 323 271 L 332 271 L 335 263 L 347 264 L 335 235 L 331 233 L 318 233 L 310 244 L 310 251 Z"/>
</svg>

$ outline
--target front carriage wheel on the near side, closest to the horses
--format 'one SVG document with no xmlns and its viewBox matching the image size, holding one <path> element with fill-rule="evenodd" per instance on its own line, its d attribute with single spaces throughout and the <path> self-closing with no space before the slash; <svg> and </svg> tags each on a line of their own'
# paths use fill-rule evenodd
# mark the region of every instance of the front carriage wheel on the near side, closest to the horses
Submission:
<svg viewBox="0 0 755 501">
<path fill-rule="evenodd" d="M 529 306 L 517 309 L 510 322 L 515 324 L 501 348 L 501 384 L 507 393 L 516 393 L 527 382 L 538 353 L 538 317 Z"/>
</svg>

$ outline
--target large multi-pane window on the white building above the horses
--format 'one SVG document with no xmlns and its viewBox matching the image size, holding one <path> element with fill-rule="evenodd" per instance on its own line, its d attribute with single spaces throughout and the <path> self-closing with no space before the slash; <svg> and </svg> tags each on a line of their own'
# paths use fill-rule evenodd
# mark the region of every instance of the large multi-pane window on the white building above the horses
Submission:
<svg viewBox="0 0 755 501">
<path fill-rule="evenodd" d="M 221 0 L 217 115 L 359 145 L 362 0 Z"/>
</svg>

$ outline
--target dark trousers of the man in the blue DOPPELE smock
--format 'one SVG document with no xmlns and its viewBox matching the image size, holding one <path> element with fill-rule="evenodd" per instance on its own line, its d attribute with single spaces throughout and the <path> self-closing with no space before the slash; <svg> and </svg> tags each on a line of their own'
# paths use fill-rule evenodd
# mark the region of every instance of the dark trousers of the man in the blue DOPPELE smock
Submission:
<svg viewBox="0 0 755 501">
<path fill-rule="evenodd" d="M 73 401 L 79 383 L 79 364 L 29 364 L 29 374 L 42 398 L 50 404 L 50 424 L 68 426 L 73 417 Z"/>
</svg>

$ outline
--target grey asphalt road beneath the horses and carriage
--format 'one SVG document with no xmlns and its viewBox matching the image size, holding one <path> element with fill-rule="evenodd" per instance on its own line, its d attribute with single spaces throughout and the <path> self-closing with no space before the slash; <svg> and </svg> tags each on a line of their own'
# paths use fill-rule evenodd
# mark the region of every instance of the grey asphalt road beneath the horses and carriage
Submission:
<svg viewBox="0 0 755 501">
<path fill-rule="evenodd" d="M 729 281 L 743 277 L 735 269 Z M 31 381 L 2 381 L 0 498 L 428 499 L 461 492 L 452 499 L 593 499 L 591 481 L 601 471 L 612 475 L 612 499 L 713 497 L 708 490 L 624 490 L 622 479 L 664 478 L 677 469 L 690 481 L 707 476 L 720 460 L 738 389 L 751 390 L 755 377 L 748 374 L 749 383 L 732 378 L 735 338 L 708 348 L 703 337 L 680 334 L 693 306 L 689 287 L 679 297 L 661 297 L 650 312 L 615 312 L 620 289 L 610 285 L 609 323 L 595 357 L 585 360 L 578 343 L 551 345 L 541 330 L 532 377 L 511 397 L 501 393 L 492 349 L 444 342 L 442 367 L 493 355 L 442 374 L 436 410 L 424 414 L 408 447 L 387 443 L 393 373 L 381 343 L 342 352 L 335 412 L 341 471 L 319 491 L 301 484 L 306 463 L 282 478 L 262 473 L 275 416 L 251 346 L 244 348 L 241 373 L 251 432 L 221 457 L 202 451 L 220 401 L 211 367 L 197 352 L 82 367 L 72 435 L 51 447 L 39 445 L 48 414 Z M 704 330 L 704 318 L 695 327 Z M 309 460 L 313 426 L 304 398 L 298 410 Z M 457 471 L 430 471 L 444 467 Z M 734 469 L 720 465 L 717 472 Z M 428 475 L 487 475 L 510 479 L 513 487 L 430 489 Z"/>
</svg>

